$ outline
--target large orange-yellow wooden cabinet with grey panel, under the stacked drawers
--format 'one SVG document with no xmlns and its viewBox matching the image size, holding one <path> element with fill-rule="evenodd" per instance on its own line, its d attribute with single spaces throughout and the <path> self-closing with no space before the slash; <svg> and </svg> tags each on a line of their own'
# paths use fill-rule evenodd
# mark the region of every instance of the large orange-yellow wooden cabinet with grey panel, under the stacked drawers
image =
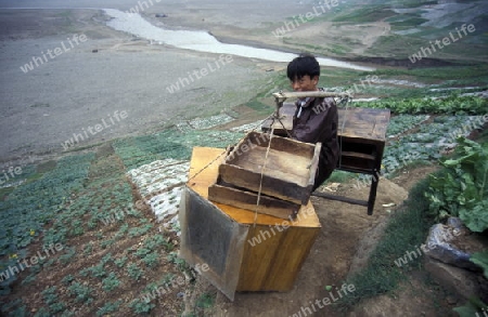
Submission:
<svg viewBox="0 0 488 317">
<path fill-rule="evenodd" d="M 292 221 L 256 214 L 228 204 L 213 203 L 207 199 L 208 190 L 217 181 L 223 156 L 221 160 L 216 158 L 222 153 L 223 149 L 219 148 L 193 148 L 187 187 L 202 197 L 196 199 L 200 206 L 193 208 L 193 211 L 202 213 L 200 219 L 218 219 L 220 225 L 209 227 L 202 224 L 196 228 L 189 228 L 183 224 L 188 222 L 197 224 L 198 219 L 182 221 L 180 254 L 191 265 L 209 262 L 210 269 L 202 272 L 202 275 L 217 288 L 223 289 L 224 294 L 231 300 L 234 291 L 288 291 L 293 288 L 301 265 L 320 233 L 321 225 L 314 209 L 308 201 L 306 206 L 300 206 L 297 217 Z M 213 163 L 192 179 L 209 162 Z M 219 228 L 215 227 L 217 225 Z M 226 227 L 239 230 L 243 239 L 235 239 L 233 235 L 222 235 L 221 228 Z M 206 234 L 191 234 L 192 230 L 203 230 Z M 217 230 L 220 234 L 213 235 L 217 234 Z M 215 236 L 218 236 L 221 241 L 206 243 L 206 238 L 202 238 L 210 236 L 213 238 L 208 239 L 216 240 Z M 222 246 L 233 247 L 222 249 Z M 206 251 L 202 252 L 202 248 Z M 222 250 L 227 250 L 227 253 Z M 223 259 L 230 259 L 229 262 L 224 265 L 222 262 L 218 262 L 219 265 L 210 265 L 215 262 L 215 259 L 210 260 L 213 254 L 221 253 L 226 253 Z"/>
</svg>

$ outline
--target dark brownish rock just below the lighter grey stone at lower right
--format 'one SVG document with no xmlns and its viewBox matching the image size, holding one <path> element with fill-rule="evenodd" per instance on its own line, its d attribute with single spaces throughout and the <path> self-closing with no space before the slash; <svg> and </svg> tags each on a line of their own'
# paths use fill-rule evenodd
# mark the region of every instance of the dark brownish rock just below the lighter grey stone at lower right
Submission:
<svg viewBox="0 0 488 317">
<path fill-rule="evenodd" d="M 480 293 L 478 277 L 475 273 L 441 263 L 428 256 L 424 259 L 425 269 L 444 288 L 458 293 L 465 300 Z"/>
</svg>

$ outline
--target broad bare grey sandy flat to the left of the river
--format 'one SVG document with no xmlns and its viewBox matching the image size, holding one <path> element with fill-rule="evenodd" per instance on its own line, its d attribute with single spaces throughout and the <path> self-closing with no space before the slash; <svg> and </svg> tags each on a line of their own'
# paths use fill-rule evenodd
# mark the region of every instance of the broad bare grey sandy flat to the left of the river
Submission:
<svg viewBox="0 0 488 317">
<path fill-rule="evenodd" d="M 197 81 L 184 80 L 218 56 L 152 45 L 117 32 L 105 26 L 107 17 L 100 11 L 0 14 L 10 25 L 0 35 L 3 161 L 33 153 L 60 154 L 62 143 L 74 134 L 85 136 L 78 137 L 78 146 L 87 146 L 218 114 L 249 100 L 268 77 L 257 61 L 233 58 Z M 73 34 L 86 35 L 88 40 L 69 47 Z M 56 48 L 62 54 L 46 55 Z M 48 62 L 41 64 L 43 55 Z M 21 66 L 33 58 L 38 66 L 33 64 L 34 69 L 24 72 Z M 168 92 L 166 88 L 179 81 L 184 87 Z M 224 96 L 229 92 L 231 100 Z M 128 117 L 88 137 L 84 134 L 117 110 L 126 110 Z"/>
</svg>

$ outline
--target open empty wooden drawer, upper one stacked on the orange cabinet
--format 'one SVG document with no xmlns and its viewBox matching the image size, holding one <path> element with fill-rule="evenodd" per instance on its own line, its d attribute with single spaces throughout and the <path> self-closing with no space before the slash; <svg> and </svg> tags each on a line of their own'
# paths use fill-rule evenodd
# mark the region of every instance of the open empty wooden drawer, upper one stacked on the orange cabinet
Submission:
<svg viewBox="0 0 488 317">
<path fill-rule="evenodd" d="M 246 190 L 261 190 L 261 194 L 271 197 L 307 204 L 313 188 L 321 144 L 273 136 L 268 151 L 269 143 L 266 133 L 248 133 L 219 167 L 221 181 Z"/>
</svg>

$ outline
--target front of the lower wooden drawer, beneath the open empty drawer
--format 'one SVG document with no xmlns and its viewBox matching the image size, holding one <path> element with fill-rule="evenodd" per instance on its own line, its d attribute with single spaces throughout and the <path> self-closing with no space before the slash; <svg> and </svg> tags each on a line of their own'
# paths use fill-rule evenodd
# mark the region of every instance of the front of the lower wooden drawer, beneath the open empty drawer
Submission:
<svg viewBox="0 0 488 317">
<path fill-rule="evenodd" d="M 244 191 L 219 184 L 214 184 L 208 188 L 208 199 L 210 201 L 242 208 L 252 212 L 269 214 L 280 219 L 294 217 L 300 209 L 300 204 L 265 195 L 260 196 L 259 206 L 256 208 L 257 196 L 256 193 Z"/>
</svg>

